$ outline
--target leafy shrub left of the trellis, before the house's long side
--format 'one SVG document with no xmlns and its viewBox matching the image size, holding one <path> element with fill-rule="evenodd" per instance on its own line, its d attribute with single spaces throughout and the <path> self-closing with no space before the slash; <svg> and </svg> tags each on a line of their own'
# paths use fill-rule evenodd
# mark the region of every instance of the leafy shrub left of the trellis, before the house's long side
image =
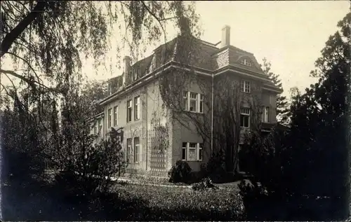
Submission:
<svg viewBox="0 0 351 222">
<path fill-rule="evenodd" d="M 84 144 L 76 142 L 72 148 L 74 154 L 67 157 L 69 161 L 57 177 L 58 185 L 65 188 L 67 195 L 105 192 L 112 183 L 112 176 L 118 176 L 126 168 L 118 137 L 102 140 L 99 144 L 92 144 L 91 136 L 85 139 Z"/>
</svg>

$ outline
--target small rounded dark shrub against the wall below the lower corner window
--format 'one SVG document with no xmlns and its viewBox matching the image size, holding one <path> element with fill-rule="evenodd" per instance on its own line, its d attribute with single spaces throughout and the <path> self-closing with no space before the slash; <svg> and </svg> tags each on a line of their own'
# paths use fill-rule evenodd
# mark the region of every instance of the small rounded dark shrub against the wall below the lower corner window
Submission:
<svg viewBox="0 0 351 222">
<path fill-rule="evenodd" d="M 187 162 L 178 160 L 176 165 L 174 165 L 171 170 L 168 172 L 169 182 L 171 183 L 187 183 L 190 179 L 190 174 L 192 168 L 190 168 Z"/>
</svg>

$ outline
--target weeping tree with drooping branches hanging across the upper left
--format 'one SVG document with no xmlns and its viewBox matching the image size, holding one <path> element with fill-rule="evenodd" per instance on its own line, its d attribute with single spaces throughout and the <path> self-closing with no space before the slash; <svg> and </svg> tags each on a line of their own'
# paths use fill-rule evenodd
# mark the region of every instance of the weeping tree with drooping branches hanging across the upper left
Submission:
<svg viewBox="0 0 351 222">
<path fill-rule="evenodd" d="M 15 67 L 0 71 L 27 85 L 30 95 L 65 97 L 70 82 L 80 82 L 81 55 L 93 57 L 95 67 L 105 61 L 115 27 L 123 34 L 114 53 L 127 45 L 138 55 L 161 40 L 167 22 L 195 34 L 197 21 L 194 4 L 183 1 L 3 1 L 1 62 L 6 57 Z"/>
</svg>

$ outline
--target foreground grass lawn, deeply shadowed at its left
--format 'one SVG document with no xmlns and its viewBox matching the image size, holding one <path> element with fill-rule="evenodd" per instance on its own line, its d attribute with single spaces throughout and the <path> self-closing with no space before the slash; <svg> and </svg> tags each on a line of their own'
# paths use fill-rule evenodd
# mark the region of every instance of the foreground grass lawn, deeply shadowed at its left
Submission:
<svg viewBox="0 0 351 222">
<path fill-rule="evenodd" d="M 6 221 L 192 221 L 240 220 L 244 207 L 235 188 L 193 191 L 190 188 L 114 183 L 94 197 L 65 197 L 43 182 L 2 184 Z"/>
</svg>

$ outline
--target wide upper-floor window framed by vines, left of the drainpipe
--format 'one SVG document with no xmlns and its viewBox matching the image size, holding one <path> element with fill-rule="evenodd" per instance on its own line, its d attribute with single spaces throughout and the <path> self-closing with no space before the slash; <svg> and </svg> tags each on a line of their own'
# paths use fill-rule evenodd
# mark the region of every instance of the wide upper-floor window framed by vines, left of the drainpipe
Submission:
<svg viewBox="0 0 351 222">
<path fill-rule="evenodd" d="M 204 113 L 204 95 L 196 92 L 183 92 L 183 109 L 195 113 Z"/>
</svg>

